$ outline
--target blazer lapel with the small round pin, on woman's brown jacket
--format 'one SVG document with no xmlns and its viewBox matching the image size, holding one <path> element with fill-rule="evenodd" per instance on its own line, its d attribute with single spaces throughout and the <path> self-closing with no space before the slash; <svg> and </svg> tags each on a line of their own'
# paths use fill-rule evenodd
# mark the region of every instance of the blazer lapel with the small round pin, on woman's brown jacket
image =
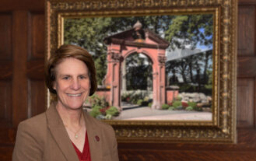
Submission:
<svg viewBox="0 0 256 161">
<path fill-rule="evenodd" d="M 93 124 L 94 121 L 89 116 L 89 114 L 84 113 L 84 118 L 86 121 L 86 130 L 89 140 L 89 152 L 91 159 L 93 161 L 100 161 L 102 159 L 102 135 L 100 129 Z"/>
</svg>

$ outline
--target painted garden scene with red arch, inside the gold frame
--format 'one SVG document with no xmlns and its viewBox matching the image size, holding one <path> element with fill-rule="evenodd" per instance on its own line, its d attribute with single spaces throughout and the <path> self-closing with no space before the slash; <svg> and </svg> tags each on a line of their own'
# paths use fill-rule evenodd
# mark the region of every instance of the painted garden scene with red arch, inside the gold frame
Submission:
<svg viewBox="0 0 256 161">
<path fill-rule="evenodd" d="M 84 103 L 93 117 L 212 121 L 214 14 L 65 18 L 63 24 L 63 43 L 86 48 L 95 61 L 98 90 Z M 121 58 L 113 59 L 114 50 Z"/>
</svg>

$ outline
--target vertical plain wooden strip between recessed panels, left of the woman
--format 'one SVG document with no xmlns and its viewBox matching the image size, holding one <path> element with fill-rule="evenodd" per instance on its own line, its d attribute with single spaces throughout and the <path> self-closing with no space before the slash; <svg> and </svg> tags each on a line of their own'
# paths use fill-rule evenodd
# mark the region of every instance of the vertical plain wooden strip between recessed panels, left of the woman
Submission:
<svg viewBox="0 0 256 161">
<path fill-rule="evenodd" d="M 15 127 L 28 117 L 26 61 L 28 53 L 28 11 L 13 12 L 12 118 Z"/>
</svg>

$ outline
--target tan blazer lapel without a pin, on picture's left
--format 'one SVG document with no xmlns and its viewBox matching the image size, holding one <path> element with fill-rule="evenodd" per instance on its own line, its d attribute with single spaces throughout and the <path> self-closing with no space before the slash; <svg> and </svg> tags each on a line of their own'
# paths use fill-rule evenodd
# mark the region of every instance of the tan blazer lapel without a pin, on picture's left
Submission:
<svg viewBox="0 0 256 161">
<path fill-rule="evenodd" d="M 61 149 L 63 156 L 65 156 L 68 161 L 79 161 L 54 103 L 52 103 L 49 109 L 46 111 L 46 116 L 48 128 L 51 131 L 52 137 L 58 144 L 59 149 Z"/>
</svg>

